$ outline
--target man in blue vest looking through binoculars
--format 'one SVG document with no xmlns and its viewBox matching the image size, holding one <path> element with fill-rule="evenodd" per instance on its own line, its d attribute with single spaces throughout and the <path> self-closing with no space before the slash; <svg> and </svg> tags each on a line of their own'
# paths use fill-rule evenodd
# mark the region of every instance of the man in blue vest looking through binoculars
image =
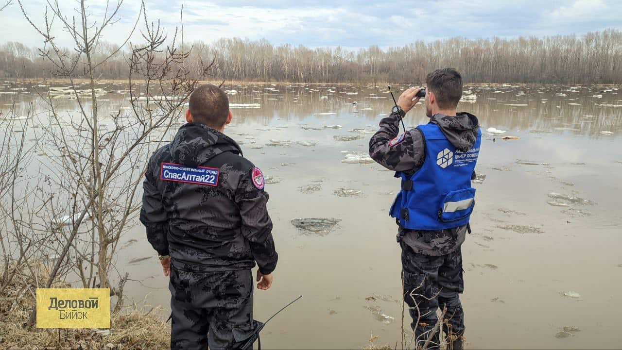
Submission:
<svg viewBox="0 0 622 350">
<path fill-rule="evenodd" d="M 470 113 L 456 113 L 462 77 L 453 68 L 425 78 L 428 124 L 399 134 L 399 122 L 419 101 L 420 88 L 399 96 L 391 115 L 369 140 L 369 155 L 401 178 L 401 191 L 390 215 L 399 226 L 404 301 L 409 305 L 416 346 L 431 339 L 439 348 L 437 310 L 445 310 L 443 331 L 448 349 L 462 349 L 464 312 L 462 252 L 475 189 L 471 178 L 480 152 L 479 122 Z"/>
</svg>

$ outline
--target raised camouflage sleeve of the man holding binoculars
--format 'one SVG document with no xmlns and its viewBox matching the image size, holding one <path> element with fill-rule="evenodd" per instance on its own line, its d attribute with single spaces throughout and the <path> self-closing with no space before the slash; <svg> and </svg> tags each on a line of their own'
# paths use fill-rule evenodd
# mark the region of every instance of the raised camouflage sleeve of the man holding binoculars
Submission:
<svg viewBox="0 0 622 350">
<path fill-rule="evenodd" d="M 380 129 L 369 140 L 369 157 L 389 170 L 403 172 L 421 167 L 425 143 L 417 129 L 399 132 L 399 114 L 380 121 Z"/>
</svg>

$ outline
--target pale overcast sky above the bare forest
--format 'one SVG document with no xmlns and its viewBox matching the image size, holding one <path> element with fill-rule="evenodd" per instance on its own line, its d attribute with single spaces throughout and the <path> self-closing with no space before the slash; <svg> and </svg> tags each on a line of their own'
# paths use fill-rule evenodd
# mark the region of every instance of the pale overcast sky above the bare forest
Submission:
<svg viewBox="0 0 622 350">
<path fill-rule="evenodd" d="M 6 0 L 0 0 L 3 2 Z M 53 1 L 53 0 L 52 0 Z M 40 46 L 42 40 L 13 4 L 0 12 L 0 43 Z M 66 16 L 73 16 L 75 0 L 58 0 Z M 116 0 L 113 0 L 116 4 Z M 183 4 L 185 40 L 212 42 L 221 37 L 248 37 L 272 44 L 338 46 L 347 48 L 401 46 L 417 39 L 470 39 L 521 35 L 585 34 L 607 28 L 622 30 L 621 0 L 419 0 L 419 1 L 201 1 L 147 0 L 149 21 L 174 30 Z M 44 23 L 47 0 L 22 0 L 35 24 Z M 101 22 L 105 0 L 87 1 L 91 20 Z M 125 0 L 119 22 L 104 32 L 104 40 L 123 42 L 140 8 Z M 144 23 L 144 22 L 141 22 Z M 58 24 L 58 21 L 55 23 Z M 56 26 L 63 46 L 72 47 Z M 132 41 L 139 41 L 134 35 Z"/>
</svg>

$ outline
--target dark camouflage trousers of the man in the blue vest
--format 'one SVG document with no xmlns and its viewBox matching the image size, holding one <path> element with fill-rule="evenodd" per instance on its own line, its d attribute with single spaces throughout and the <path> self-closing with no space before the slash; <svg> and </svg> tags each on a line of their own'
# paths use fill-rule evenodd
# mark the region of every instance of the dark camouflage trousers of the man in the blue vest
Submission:
<svg viewBox="0 0 622 350">
<path fill-rule="evenodd" d="M 443 331 L 450 341 L 464 334 L 464 311 L 459 294 L 464 290 L 462 251 L 458 248 L 445 256 L 416 253 L 402 243 L 404 301 L 412 317 L 411 328 L 421 348 L 438 321 L 437 310 L 447 308 Z M 439 334 L 432 336 L 429 349 L 438 349 Z"/>
</svg>

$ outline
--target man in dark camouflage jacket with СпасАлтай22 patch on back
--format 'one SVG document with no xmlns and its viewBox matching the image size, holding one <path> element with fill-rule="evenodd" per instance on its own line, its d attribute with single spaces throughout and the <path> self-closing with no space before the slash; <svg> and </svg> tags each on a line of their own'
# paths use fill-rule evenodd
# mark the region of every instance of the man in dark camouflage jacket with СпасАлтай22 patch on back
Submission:
<svg viewBox="0 0 622 350">
<path fill-rule="evenodd" d="M 193 91 L 186 119 L 149 160 L 141 222 L 170 275 L 171 348 L 239 348 L 257 326 L 251 269 L 267 290 L 277 264 L 268 193 L 223 134 L 231 112 L 220 88 Z"/>
</svg>

